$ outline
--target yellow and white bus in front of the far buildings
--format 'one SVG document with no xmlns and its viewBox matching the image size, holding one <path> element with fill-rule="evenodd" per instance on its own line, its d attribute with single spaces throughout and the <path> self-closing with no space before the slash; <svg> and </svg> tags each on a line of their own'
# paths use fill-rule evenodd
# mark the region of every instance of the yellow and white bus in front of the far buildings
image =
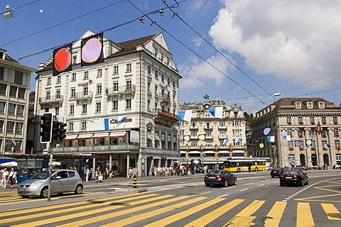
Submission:
<svg viewBox="0 0 341 227">
<path fill-rule="evenodd" d="M 269 157 L 229 157 L 224 161 L 224 170 L 229 172 L 261 171 L 269 169 Z"/>
</svg>

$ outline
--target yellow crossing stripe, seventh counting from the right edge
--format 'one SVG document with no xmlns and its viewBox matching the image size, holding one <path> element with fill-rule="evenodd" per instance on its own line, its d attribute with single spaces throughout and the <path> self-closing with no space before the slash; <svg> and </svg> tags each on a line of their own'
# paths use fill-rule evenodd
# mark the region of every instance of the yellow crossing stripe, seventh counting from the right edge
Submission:
<svg viewBox="0 0 341 227">
<path fill-rule="evenodd" d="M 129 224 L 135 223 L 136 221 L 141 221 L 141 220 L 144 220 L 146 218 L 150 218 L 152 216 L 157 216 L 158 214 L 163 214 L 163 213 L 166 213 L 166 212 L 174 210 L 174 209 L 183 208 L 183 206 L 187 206 L 188 204 L 193 204 L 193 203 L 195 203 L 197 201 L 201 201 L 202 199 L 206 199 L 206 197 L 195 197 L 194 199 L 190 199 L 188 201 L 183 201 L 183 202 L 180 202 L 178 204 L 174 204 L 174 205 L 171 205 L 171 206 L 166 206 L 166 207 L 163 207 L 161 209 L 156 209 L 155 211 L 150 211 L 150 212 L 147 212 L 147 213 L 144 213 L 144 214 L 140 214 L 140 215 L 136 215 L 136 216 L 133 216 L 133 217 L 130 217 L 130 218 L 125 218 L 125 219 L 122 219 L 122 220 L 119 220 L 119 221 L 115 221 L 115 222 L 109 223 L 109 224 L 104 225 L 104 226 L 105 227 L 126 226 L 126 225 L 129 225 Z M 151 206 L 149 205 L 149 207 L 151 207 Z M 101 226 L 101 227 L 104 227 L 104 226 Z"/>
</svg>

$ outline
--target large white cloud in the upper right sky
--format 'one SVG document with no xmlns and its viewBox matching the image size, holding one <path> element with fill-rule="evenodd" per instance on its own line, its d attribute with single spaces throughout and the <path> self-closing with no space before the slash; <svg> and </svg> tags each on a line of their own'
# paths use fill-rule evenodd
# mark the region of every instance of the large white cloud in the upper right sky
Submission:
<svg viewBox="0 0 341 227">
<path fill-rule="evenodd" d="M 296 84 L 340 77 L 340 1 L 225 0 L 210 28 L 217 48 L 259 74 Z"/>
</svg>

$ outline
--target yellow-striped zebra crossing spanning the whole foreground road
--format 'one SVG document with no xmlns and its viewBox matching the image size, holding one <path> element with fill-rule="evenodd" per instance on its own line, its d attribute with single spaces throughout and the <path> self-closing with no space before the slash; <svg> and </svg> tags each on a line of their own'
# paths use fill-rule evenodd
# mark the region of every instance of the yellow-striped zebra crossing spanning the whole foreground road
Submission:
<svg viewBox="0 0 341 227">
<path fill-rule="evenodd" d="M 29 199 L 20 199 L 26 202 Z M 13 197 L 3 205 L 18 202 Z M 124 194 L 87 201 L 2 211 L 0 226 L 280 226 L 296 210 L 296 226 L 318 226 L 305 201 L 212 198 L 202 195 Z M 325 226 L 340 226 L 340 206 L 320 203 Z M 263 214 L 264 213 L 264 214 Z M 300 215 L 304 214 L 304 215 Z M 321 221 L 321 220 L 319 220 Z"/>
</svg>

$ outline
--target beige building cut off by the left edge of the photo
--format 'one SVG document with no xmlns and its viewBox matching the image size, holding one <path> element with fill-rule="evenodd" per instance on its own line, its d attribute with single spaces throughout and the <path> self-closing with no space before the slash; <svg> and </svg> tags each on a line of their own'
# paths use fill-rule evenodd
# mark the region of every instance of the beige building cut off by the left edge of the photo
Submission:
<svg viewBox="0 0 341 227">
<path fill-rule="evenodd" d="M 31 72 L 0 49 L 0 154 L 26 150 Z"/>
</svg>

